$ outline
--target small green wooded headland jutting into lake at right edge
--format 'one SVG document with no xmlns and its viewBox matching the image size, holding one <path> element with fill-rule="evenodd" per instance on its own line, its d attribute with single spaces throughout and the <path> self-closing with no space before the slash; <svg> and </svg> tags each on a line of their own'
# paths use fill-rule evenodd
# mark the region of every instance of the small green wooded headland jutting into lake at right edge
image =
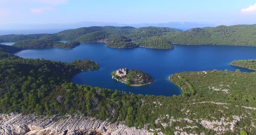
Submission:
<svg viewBox="0 0 256 135">
<path fill-rule="evenodd" d="M 252 70 L 256 70 L 256 60 L 235 60 L 230 63 L 234 66 L 249 68 Z"/>
</svg>

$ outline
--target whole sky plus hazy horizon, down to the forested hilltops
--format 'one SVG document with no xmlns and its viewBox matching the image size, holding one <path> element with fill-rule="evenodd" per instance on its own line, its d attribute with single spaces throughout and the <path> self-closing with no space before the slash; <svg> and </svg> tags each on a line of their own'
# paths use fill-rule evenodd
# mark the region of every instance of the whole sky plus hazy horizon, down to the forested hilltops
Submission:
<svg viewBox="0 0 256 135">
<path fill-rule="evenodd" d="M 256 0 L 0 0 L 0 35 L 54 33 L 89 26 L 187 30 L 256 24 Z"/>
</svg>

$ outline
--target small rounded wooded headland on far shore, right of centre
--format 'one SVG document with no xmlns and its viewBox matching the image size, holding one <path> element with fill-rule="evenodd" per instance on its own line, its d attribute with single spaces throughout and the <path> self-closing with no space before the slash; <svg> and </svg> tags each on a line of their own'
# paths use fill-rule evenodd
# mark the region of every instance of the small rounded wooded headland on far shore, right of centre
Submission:
<svg viewBox="0 0 256 135">
<path fill-rule="evenodd" d="M 174 46 L 170 44 L 166 39 L 162 37 L 150 37 L 145 39 L 140 46 L 146 48 L 161 48 L 161 49 L 173 49 Z"/>
</svg>

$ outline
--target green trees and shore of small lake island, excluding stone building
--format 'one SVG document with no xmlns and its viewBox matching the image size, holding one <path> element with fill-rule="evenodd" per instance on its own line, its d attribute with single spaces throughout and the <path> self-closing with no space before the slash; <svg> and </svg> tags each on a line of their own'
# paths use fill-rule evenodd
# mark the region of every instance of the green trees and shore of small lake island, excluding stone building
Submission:
<svg viewBox="0 0 256 135">
<path fill-rule="evenodd" d="M 153 78 L 149 74 L 138 69 L 127 69 L 126 71 L 128 74 L 122 77 L 117 76 L 116 71 L 113 71 L 111 74 L 115 79 L 121 80 L 128 85 L 144 85 L 153 82 Z"/>
</svg>

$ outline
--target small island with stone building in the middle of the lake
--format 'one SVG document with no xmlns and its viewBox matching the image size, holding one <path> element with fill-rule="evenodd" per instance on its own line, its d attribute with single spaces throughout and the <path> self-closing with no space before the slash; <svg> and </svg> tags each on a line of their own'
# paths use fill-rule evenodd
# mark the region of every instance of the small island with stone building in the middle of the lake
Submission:
<svg viewBox="0 0 256 135">
<path fill-rule="evenodd" d="M 149 74 L 137 69 L 129 70 L 127 68 L 122 68 L 117 71 L 113 71 L 111 74 L 113 79 L 130 86 L 143 86 L 153 82 L 153 78 Z"/>
</svg>

